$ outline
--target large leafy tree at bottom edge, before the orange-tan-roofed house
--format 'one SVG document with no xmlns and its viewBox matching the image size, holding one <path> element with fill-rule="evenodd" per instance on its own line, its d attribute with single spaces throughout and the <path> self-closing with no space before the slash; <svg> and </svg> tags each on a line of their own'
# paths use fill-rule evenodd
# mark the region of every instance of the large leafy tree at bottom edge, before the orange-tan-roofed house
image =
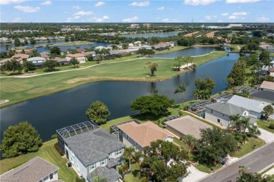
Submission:
<svg viewBox="0 0 274 182">
<path fill-rule="evenodd" d="M 153 141 L 143 150 L 141 176 L 152 181 L 177 181 L 188 176 L 188 155 L 168 141 Z"/>
</svg>

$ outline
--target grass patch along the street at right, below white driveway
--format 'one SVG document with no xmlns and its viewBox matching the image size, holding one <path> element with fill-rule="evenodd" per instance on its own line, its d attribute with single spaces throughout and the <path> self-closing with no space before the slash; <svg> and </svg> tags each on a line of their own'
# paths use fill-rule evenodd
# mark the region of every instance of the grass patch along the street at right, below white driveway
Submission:
<svg viewBox="0 0 274 182">
<path fill-rule="evenodd" d="M 240 151 L 235 152 L 232 157 L 242 157 L 244 155 L 247 155 L 249 152 L 256 150 L 256 148 L 260 148 L 261 146 L 265 144 L 266 143 L 260 138 L 250 137 L 248 138 L 247 143 L 241 146 Z"/>
</svg>

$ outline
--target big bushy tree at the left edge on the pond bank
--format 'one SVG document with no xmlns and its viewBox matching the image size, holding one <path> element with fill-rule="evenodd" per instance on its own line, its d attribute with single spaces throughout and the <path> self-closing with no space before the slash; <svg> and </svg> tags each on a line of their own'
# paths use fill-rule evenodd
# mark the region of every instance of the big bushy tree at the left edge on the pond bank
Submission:
<svg viewBox="0 0 274 182">
<path fill-rule="evenodd" d="M 0 148 L 3 157 L 15 157 L 27 152 L 36 152 L 41 145 L 42 140 L 37 130 L 28 122 L 20 122 L 4 131 Z"/>
</svg>

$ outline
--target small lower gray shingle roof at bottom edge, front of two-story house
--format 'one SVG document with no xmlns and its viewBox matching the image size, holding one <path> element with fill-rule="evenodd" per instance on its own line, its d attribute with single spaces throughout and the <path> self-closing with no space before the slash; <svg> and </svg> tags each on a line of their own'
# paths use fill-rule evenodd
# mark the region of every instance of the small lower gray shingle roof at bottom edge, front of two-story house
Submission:
<svg viewBox="0 0 274 182">
<path fill-rule="evenodd" d="M 122 178 L 115 169 L 108 169 L 107 167 L 97 167 L 94 171 L 88 174 L 87 179 L 93 182 L 93 176 L 98 175 L 100 178 L 106 178 L 107 182 L 115 182 L 117 179 Z"/>
</svg>

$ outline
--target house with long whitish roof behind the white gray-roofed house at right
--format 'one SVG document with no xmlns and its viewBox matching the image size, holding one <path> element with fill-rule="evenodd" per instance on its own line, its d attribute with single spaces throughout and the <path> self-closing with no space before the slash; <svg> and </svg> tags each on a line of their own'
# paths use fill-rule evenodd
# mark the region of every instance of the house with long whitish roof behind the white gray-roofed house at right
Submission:
<svg viewBox="0 0 274 182">
<path fill-rule="evenodd" d="M 244 98 L 237 95 L 234 95 L 232 98 L 230 98 L 228 103 L 245 108 L 249 111 L 249 115 L 255 118 L 261 118 L 261 115 L 263 115 L 263 108 L 266 107 L 266 105 L 270 105 L 270 103 Z"/>
</svg>

